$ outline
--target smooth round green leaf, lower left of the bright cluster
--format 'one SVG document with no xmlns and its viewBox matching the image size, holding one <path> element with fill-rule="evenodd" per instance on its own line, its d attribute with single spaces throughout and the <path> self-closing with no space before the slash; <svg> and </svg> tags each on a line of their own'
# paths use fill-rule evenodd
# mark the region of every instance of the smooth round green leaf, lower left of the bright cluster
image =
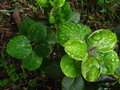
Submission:
<svg viewBox="0 0 120 90">
<path fill-rule="evenodd" d="M 68 55 L 62 57 L 60 67 L 62 72 L 68 77 L 80 76 L 81 62 L 72 59 Z"/>
</svg>

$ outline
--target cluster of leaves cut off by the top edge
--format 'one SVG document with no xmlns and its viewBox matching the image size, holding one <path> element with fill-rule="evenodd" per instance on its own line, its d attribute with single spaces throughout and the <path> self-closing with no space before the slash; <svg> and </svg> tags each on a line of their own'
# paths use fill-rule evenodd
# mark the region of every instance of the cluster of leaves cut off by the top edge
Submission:
<svg viewBox="0 0 120 90">
<path fill-rule="evenodd" d="M 59 24 L 60 22 L 72 20 L 78 22 L 80 19 L 80 14 L 72 11 L 70 2 L 66 0 L 36 0 L 36 3 L 45 8 L 50 24 Z"/>
</svg>

